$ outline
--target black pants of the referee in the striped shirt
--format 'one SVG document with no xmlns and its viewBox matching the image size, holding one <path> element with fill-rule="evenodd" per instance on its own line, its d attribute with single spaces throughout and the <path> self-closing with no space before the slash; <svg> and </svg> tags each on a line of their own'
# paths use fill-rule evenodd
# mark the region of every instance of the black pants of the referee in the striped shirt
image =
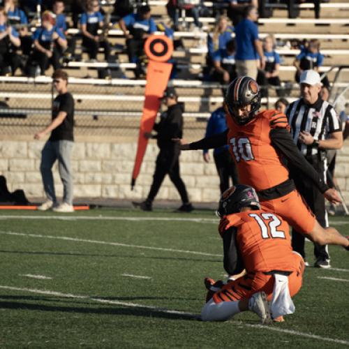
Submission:
<svg viewBox="0 0 349 349">
<path fill-rule="evenodd" d="M 324 161 L 319 161 L 318 156 L 313 156 L 309 159 L 313 168 L 320 174 L 322 179 L 325 177 L 325 163 Z M 295 185 L 299 193 L 303 196 L 304 200 L 311 208 L 315 214 L 316 219 L 323 228 L 327 226 L 327 213 L 325 209 L 325 197 L 318 190 L 318 188 L 313 184 L 313 182 L 302 174 L 291 172 L 292 179 L 295 181 Z M 292 229 L 292 248 L 294 251 L 297 251 L 305 258 L 304 251 L 305 237 L 297 232 L 295 229 Z M 316 258 L 329 258 L 327 252 L 327 246 L 320 246 L 314 244 L 314 255 Z"/>
</svg>

